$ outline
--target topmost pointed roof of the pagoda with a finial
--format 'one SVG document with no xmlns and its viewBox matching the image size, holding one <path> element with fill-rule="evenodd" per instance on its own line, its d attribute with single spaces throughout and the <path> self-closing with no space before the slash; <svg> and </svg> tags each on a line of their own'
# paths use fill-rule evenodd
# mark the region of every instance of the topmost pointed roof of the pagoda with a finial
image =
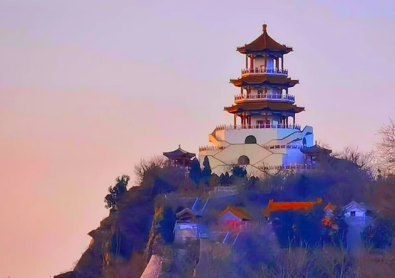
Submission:
<svg viewBox="0 0 395 278">
<path fill-rule="evenodd" d="M 292 51 L 292 47 L 288 47 L 285 44 L 280 44 L 276 42 L 267 32 L 267 25 L 262 25 L 262 35 L 258 36 L 252 42 L 245 44 L 243 46 L 237 47 L 237 51 L 242 54 L 248 54 L 255 51 L 262 50 L 273 50 L 282 52 L 283 54 L 289 53 Z"/>
</svg>

